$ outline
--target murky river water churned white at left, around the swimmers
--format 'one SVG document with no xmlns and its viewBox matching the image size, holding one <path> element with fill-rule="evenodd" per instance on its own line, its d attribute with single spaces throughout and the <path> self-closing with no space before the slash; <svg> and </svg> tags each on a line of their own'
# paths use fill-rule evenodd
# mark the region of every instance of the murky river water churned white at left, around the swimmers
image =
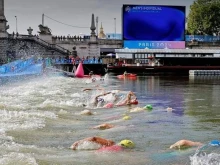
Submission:
<svg viewBox="0 0 220 165">
<path fill-rule="evenodd" d="M 97 87 L 98 86 L 98 87 Z M 89 107 L 99 90 L 134 91 L 139 104 L 112 109 Z M 0 164 L 4 165 L 202 165 L 219 164 L 220 149 L 173 150 L 180 139 L 208 144 L 220 139 L 220 77 L 138 76 L 137 79 L 76 79 L 44 75 L 0 86 Z M 152 105 L 152 111 L 130 112 Z M 87 105 L 85 107 L 84 105 Z M 166 108 L 173 111 L 167 112 Z M 89 109 L 94 115 L 80 115 Z M 130 120 L 123 120 L 128 115 Z M 92 127 L 110 123 L 112 129 Z M 100 136 L 135 148 L 98 153 L 69 149 L 73 142 Z M 213 163 L 214 162 L 214 163 Z"/>
</svg>

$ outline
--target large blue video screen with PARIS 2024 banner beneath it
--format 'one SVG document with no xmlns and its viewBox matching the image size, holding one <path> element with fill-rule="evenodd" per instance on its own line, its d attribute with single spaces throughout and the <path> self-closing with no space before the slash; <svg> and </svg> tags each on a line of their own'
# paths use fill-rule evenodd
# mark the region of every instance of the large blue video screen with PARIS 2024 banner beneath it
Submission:
<svg viewBox="0 0 220 165">
<path fill-rule="evenodd" d="M 123 5 L 124 47 L 185 48 L 185 6 Z"/>
</svg>

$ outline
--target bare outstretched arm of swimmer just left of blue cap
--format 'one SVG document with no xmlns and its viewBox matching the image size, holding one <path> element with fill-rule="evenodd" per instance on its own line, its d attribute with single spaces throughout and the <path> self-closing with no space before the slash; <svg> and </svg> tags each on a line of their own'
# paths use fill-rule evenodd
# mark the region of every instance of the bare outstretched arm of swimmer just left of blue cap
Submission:
<svg viewBox="0 0 220 165">
<path fill-rule="evenodd" d="M 200 142 L 194 142 L 190 140 L 179 140 L 173 145 L 170 146 L 170 149 L 181 149 L 181 148 L 187 148 L 187 147 L 199 147 L 203 144 Z"/>
</svg>

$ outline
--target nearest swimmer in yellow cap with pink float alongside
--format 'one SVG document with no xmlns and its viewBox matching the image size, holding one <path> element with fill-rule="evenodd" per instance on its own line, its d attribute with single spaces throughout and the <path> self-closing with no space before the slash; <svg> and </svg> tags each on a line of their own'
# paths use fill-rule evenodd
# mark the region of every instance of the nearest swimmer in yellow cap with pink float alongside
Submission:
<svg viewBox="0 0 220 165">
<path fill-rule="evenodd" d="M 112 140 L 101 137 L 89 137 L 76 141 L 71 145 L 72 150 L 122 151 L 124 148 L 134 148 L 131 140 L 122 140 L 116 144 Z"/>
</svg>

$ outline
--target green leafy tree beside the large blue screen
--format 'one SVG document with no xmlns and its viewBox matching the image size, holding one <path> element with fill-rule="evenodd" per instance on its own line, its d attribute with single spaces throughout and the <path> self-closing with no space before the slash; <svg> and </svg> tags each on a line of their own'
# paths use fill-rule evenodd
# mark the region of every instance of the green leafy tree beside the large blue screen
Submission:
<svg viewBox="0 0 220 165">
<path fill-rule="evenodd" d="M 187 18 L 190 34 L 218 35 L 220 31 L 220 0 L 195 0 Z"/>
</svg>

